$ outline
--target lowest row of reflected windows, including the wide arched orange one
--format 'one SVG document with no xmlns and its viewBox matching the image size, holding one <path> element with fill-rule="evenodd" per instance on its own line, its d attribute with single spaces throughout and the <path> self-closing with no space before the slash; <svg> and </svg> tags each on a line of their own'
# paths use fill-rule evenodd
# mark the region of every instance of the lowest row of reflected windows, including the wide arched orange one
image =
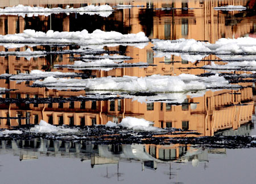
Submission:
<svg viewBox="0 0 256 184">
<path fill-rule="evenodd" d="M 94 144 L 84 144 L 74 143 L 72 141 L 55 141 L 55 140 L 16 140 L 16 141 L 0 141 L 0 148 L 12 149 L 14 145 L 17 148 L 26 149 L 26 148 L 34 148 L 38 149 L 42 147 L 42 141 L 44 142 L 43 146 L 46 148 L 47 152 L 69 152 L 69 153 L 91 153 L 91 154 L 99 154 L 100 147 L 108 147 L 107 150 L 113 154 L 122 154 L 124 152 L 123 147 L 127 147 L 126 145 L 94 145 Z M 158 151 L 158 154 L 157 154 Z M 155 145 L 150 145 L 148 148 L 148 154 L 152 157 L 155 157 L 159 160 L 163 161 L 171 161 L 176 160 L 177 158 L 183 156 L 187 153 L 188 148 L 187 145 L 179 148 L 156 148 Z M 146 149 L 144 148 L 144 152 Z"/>
</svg>

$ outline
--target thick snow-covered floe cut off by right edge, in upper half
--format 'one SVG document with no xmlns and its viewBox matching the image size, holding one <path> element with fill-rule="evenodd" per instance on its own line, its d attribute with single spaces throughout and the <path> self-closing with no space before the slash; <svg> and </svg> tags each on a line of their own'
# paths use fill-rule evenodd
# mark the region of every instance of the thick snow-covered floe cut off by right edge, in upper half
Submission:
<svg viewBox="0 0 256 184">
<path fill-rule="evenodd" d="M 198 58 L 205 57 L 209 54 L 218 55 L 256 55 L 256 39 L 253 37 L 239 37 L 238 39 L 221 38 L 215 44 L 197 41 L 194 39 L 178 40 L 153 40 L 153 49 L 158 55 L 179 53 L 179 55 L 189 55 L 187 60 L 195 61 Z M 163 52 L 163 53 L 162 53 Z M 161 55 L 162 54 L 162 55 Z M 200 56 L 201 55 L 201 56 Z M 195 58 L 193 58 L 195 56 Z"/>
</svg>

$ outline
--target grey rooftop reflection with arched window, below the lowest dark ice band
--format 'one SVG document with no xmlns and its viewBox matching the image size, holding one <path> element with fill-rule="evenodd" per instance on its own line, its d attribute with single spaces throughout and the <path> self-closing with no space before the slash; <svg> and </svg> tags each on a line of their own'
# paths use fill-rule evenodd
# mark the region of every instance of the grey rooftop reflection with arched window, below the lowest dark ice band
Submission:
<svg viewBox="0 0 256 184">
<path fill-rule="evenodd" d="M 249 135 L 249 124 L 241 126 L 238 135 Z M 199 162 L 208 162 L 209 154 L 226 154 L 225 148 L 191 147 L 191 145 L 94 145 L 84 141 L 61 141 L 35 138 L 32 140 L 2 140 L 0 153 L 11 153 L 20 161 L 35 160 L 42 156 L 77 158 L 82 162 L 90 161 L 91 166 L 118 164 L 123 161 L 141 162 L 145 168 L 157 169 L 164 162 L 189 163 L 197 166 Z"/>
</svg>

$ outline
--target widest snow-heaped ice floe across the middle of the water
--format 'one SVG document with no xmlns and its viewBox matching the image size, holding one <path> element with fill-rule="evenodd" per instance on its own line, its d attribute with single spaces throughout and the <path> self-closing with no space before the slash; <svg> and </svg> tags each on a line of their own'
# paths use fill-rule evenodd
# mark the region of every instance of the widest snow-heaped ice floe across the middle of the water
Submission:
<svg viewBox="0 0 256 184">
<path fill-rule="evenodd" d="M 193 90 L 205 90 L 216 87 L 232 87 L 224 77 L 218 74 L 210 77 L 199 77 L 192 74 L 179 76 L 149 77 L 101 77 L 85 80 L 47 77 L 43 81 L 35 81 L 34 87 L 48 87 L 49 89 L 77 89 L 77 90 L 108 90 L 128 92 L 174 93 Z"/>
</svg>

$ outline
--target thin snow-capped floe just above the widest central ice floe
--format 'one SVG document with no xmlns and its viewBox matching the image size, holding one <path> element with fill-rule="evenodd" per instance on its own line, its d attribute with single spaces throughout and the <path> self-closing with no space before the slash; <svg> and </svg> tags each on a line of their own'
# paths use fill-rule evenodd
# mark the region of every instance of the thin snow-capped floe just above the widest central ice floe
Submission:
<svg viewBox="0 0 256 184">
<path fill-rule="evenodd" d="M 74 70 L 104 70 L 109 71 L 114 68 L 127 68 L 127 67 L 147 67 L 150 64 L 146 62 L 136 63 L 119 63 L 109 58 L 102 60 L 95 60 L 92 62 L 75 61 L 73 65 L 54 65 L 55 68 L 70 68 Z"/>
</svg>

